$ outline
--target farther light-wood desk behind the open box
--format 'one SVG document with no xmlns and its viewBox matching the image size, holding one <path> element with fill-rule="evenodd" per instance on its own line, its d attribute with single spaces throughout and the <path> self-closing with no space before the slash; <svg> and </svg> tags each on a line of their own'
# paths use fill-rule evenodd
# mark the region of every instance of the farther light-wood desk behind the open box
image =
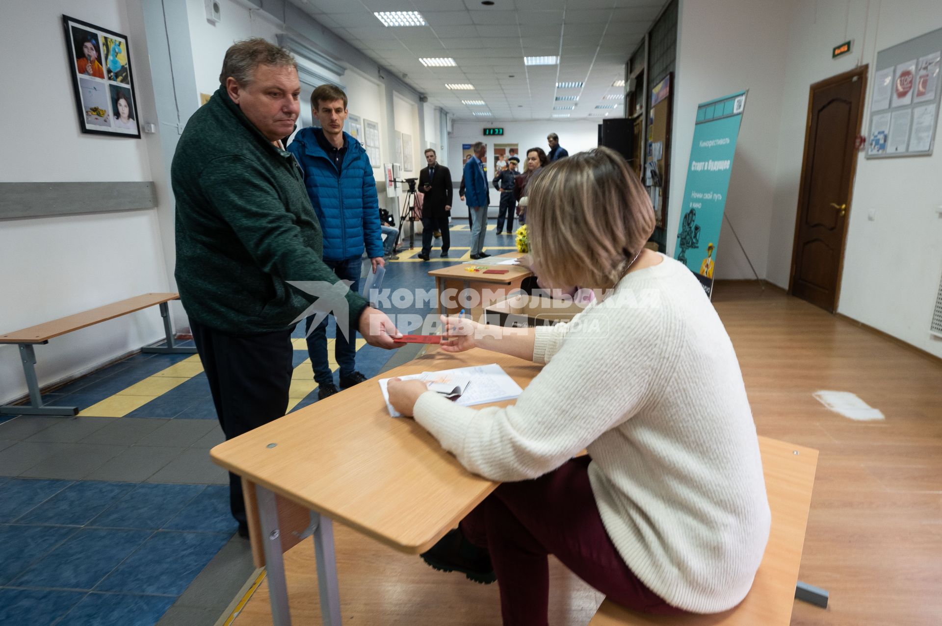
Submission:
<svg viewBox="0 0 942 626">
<path fill-rule="evenodd" d="M 498 255 L 501 258 L 514 259 L 523 256 L 520 252 L 507 252 Z M 494 258 L 494 257 L 491 257 Z M 508 297 L 512 291 L 519 289 L 520 284 L 528 276 L 532 276 L 527 267 L 522 265 L 494 265 L 495 269 L 509 269 L 507 274 L 484 274 L 484 270 L 479 272 L 469 272 L 465 269 L 471 263 L 460 265 L 448 265 L 429 271 L 429 276 L 435 277 L 435 288 L 438 293 L 438 313 L 454 315 L 462 309 L 471 313 L 472 319 L 483 321 L 484 308 L 494 304 L 497 300 Z M 488 265 L 490 268 L 491 265 Z M 478 306 L 466 307 L 457 302 L 456 306 L 446 306 L 442 302 L 442 294 L 447 289 L 454 289 L 457 294 L 463 290 L 475 291 L 479 294 Z M 460 300 L 460 298 L 457 298 Z"/>
</svg>

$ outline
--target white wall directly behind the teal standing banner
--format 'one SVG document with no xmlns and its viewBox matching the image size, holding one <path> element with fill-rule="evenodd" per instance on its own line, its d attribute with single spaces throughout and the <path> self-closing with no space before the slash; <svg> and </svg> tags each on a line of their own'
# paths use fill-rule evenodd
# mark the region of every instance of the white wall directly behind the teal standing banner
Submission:
<svg viewBox="0 0 942 626">
<path fill-rule="evenodd" d="M 681 0 L 674 90 L 667 250 L 674 254 L 697 104 L 749 89 L 725 213 L 760 277 L 769 255 L 788 31 L 788 3 L 777 0 Z M 839 41 L 838 41 L 839 42 Z M 804 107 L 802 108 L 804 111 Z M 800 157 L 799 157 L 800 160 Z M 752 270 L 724 221 L 718 279 L 750 279 Z"/>
</svg>

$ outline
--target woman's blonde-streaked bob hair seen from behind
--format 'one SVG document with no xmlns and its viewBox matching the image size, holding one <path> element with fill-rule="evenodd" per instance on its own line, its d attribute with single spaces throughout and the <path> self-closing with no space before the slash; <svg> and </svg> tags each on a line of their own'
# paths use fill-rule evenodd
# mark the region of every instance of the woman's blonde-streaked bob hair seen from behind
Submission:
<svg viewBox="0 0 942 626">
<path fill-rule="evenodd" d="M 609 289 L 654 233 L 641 181 L 609 148 L 546 166 L 527 185 L 527 238 L 540 278 Z"/>
</svg>

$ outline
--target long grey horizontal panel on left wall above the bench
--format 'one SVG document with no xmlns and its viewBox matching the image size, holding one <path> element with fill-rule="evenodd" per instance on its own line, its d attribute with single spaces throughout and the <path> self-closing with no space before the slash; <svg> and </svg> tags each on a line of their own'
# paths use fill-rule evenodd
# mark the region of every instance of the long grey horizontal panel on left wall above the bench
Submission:
<svg viewBox="0 0 942 626">
<path fill-rule="evenodd" d="M 150 209 L 154 183 L 0 183 L 0 219 Z"/>
</svg>

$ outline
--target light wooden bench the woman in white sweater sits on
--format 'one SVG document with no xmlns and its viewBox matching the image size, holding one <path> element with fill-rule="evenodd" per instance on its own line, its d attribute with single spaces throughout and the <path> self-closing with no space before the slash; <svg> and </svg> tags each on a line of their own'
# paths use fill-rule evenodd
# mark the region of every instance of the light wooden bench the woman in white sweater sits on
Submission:
<svg viewBox="0 0 942 626">
<path fill-rule="evenodd" d="M 818 451 L 759 437 L 771 532 L 753 587 L 736 608 L 714 615 L 653 616 L 608 600 L 589 626 L 788 626 L 794 599 L 827 605 L 827 592 L 798 582 Z"/>
</svg>

